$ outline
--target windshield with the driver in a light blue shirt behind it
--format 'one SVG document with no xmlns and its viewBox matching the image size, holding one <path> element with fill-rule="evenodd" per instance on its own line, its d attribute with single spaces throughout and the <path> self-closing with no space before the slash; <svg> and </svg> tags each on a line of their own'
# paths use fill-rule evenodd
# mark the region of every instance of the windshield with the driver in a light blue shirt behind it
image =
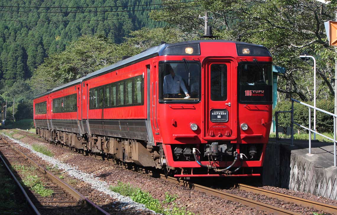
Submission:
<svg viewBox="0 0 337 215">
<path fill-rule="evenodd" d="M 195 61 L 172 61 L 159 64 L 159 101 L 195 103 L 200 101 L 201 66 Z"/>
</svg>

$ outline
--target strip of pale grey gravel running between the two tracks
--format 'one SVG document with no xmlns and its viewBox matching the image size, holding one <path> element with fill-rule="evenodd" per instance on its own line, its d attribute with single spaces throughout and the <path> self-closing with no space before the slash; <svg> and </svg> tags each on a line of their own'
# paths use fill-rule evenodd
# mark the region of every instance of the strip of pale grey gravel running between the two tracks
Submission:
<svg viewBox="0 0 337 215">
<path fill-rule="evenodd" d="M 7 135 L 6 135 L 7 136 Z M 71 176 L 74 177 L 76 179 L 79 179 L 85 183 L 88 183 L 89 185 L 91 185 L 92 188 L 104 192 L 108 195 L 110 195 L 112 198 L 114 199 L 118 199 L 119 201 L 119 208 L 121 210 L 126 210 L 129 208 L 133 208 L 136 210 L 144 210 L 144 211 L 149 211 L 149 209 L 147 209 L 143 204 L 139 204 L 136 203 L 134 201 L 131 200 L 131 198 L 127 197 L 127 196 L 123 196 L 119 193 L 113 192 L 111 190 L 108 189 L 109 185 L 108 183 L 104 182 L 104 181 L 100 181 L 98 180 L 97 177 L 94 177 L 93 174 L 88 174 L 88 173 L 84 173 L 81 170 L 78 169 L 78 167 L 76 166 L 71 166 L 68 165 L 66 163 L 63 163 L 55 158 L 49 157 L 47 155 L 44 155 L 40 152 L 35 151 L 30 145 L 25 144 L 21 141 L 12 139 L 11 137 L 7 136 L 8 139 L 10 139 L 11 141 L 13 141 L 14 143 L 19 144 L 21 147 L 24 147 L 26 149 L 29 149 L 31 152 L 33 152 L 34 154 L 36 154 L 37 156 L 39 156 L 42 160 L 49 162 L 50 164 L 53 164 L 53 166 L 55 168 L 58 168 L 60 170 L 66 171 L 66 173 Z M 112 206 L 114 207 L 114 206 Z M 150 211 L 151 213 L 155 214 L 154 211 Z"/>
</svg>

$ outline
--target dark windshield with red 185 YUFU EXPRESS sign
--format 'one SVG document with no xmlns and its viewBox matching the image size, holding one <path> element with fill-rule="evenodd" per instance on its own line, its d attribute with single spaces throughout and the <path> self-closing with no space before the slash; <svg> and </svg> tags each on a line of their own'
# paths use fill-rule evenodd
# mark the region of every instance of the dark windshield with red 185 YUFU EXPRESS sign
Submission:
<svg viewBox="0 0 337 215">
<path fill-rule="evenodd" d="M 272 63 L 241 62 L 239 70 L 240 103 L 272 103 Z"/>
</svg>

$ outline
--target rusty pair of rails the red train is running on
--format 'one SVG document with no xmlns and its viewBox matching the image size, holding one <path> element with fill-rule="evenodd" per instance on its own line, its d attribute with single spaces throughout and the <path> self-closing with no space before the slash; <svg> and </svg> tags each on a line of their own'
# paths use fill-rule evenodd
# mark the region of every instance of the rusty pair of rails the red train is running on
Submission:
<svg viewBox="0 0 337 215">
<path fill-rule="evenodd" d="M 22 135 L 29 135 L 29 136 L 33 137 L 34 139 L 37 139 L 37 140 L 40 140 L 40 141 L 43 140 L 39 137 L 35 137 L 35 136 L 25 132 L 25 131 L 15 130 L 15 132 L 20 133 Z M 99 156 L 95 156 L 95 157 L 99 157 Z M 100 157 L 100 159 L 104 159 L 104 158 Z M 154 174 L 151 170 L 146 170 L 146 169 L 140 168 L 138 166 L 136 166 L 136 167 L 134 166 L 133 168 L 134 168 L 134 170 L 138 170 L 142 173 L 147 172 L 147 173 L 150 173 L 150 174 Z M 205 193 L 210 194 L 210 195 L 218 196 L 218 197 L 224 198 L 228 201 L 239 202 L 243 205 L 247 205 L 249 207 L 256 208 L 258 210 L 263 210 L 263 211 L 266 211 L 268 213 L 280 214 L 280 215 L 290 215 L 290 214 L 291 215 L 299 215 L 299 213 L 291 211 L 291 210 L 286 210 L 286 209 L 283 209 L 283 208 L 275 207 L 273 205 L 261 203 L 259 201 L 255 201 L 255 200 L 250 199 L 250 198 L 246 198 L 246 197 L 242 197 L 242 196 L 239 196 L 239 195 L 224 192 L 222 190 L 202 186 L 202 185 L 199 185 L 199 184 L 192 183 L 190 181 L 179 180 L 179 179 L 173 178 L 173 177 L 166 177 L 163 174 L 160 174 L 159 177 L 164 179 L 164 180 L 167 180 L 167 181 L 172 182 L 172 183 L 179 184 L 179 185 L 184 186 L 184 187 L 188 187 L 188 188 L 195 189 L 195 190 L 198 190 L 198 191 L 201 191 L 201 192 L 205 192 Z M 274 191 L 270 191 L 270 190 L 266 190 L 266 189 L 262 189 L 262 188 L 258 188 L 258 187 L 253 187 L 253 186 L 246 185 L 246 184 L 236 184 L 236 188 L 239 189 L 239 190 L 244 190 L 246 192 L 251 192 L 251 193 L 254 193 L 254 194 L 261 195 L 261 196 L 266 196 L 268 198 L 279 199 L 279 200 L 284 201 L 284 202 L 294 203 L 296 205 L 300 205 L 300 206 L 303 206 L 303 207 L 309 207 L 309 208 L 313 208 L 313 209 L 318 210 L 318 211 L 324 211 L 325 213 L 337 215 L 337 207 L 334 206 L 334 205 L 318 203 L 318 202 L 314 202 L 314 201 L 311 201 L 311 200 L 308 200 L 308 199 L 290 196 L 290 195 L 286 195 L 286 194 L 283 194 L 283 193 L 277 193 L 277 192 L 274 192 Z"/>
</svg>

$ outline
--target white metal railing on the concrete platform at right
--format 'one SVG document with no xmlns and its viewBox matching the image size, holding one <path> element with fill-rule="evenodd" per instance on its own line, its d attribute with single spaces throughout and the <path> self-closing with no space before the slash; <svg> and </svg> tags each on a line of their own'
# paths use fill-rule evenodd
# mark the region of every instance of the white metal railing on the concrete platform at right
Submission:
<svg viewBox="0 0 337 215">
<path fill-rule="evenodd" d="M 303 105 L 305 105 L 309 108 L 309 128 L 294 122 L 294 102 L 303 104 Z M 330 115 L 334 118 L 334 139 L 311 129 L 311 109 L 323 112 L 323 113 L 328 114 L 328 115 Z M 290 123 L 290 126 L 291 126 L 291 130 L 290 130 L 291 146 L 294 146 L 294 124 L 309 131 L 309 154 L 311 154 L 311 132 L 313 132 L 315 134 L 318 134 L 320 136 L 323 136 L 323 137 L 327 138 L 328 140 L 333 141 L 334 142 L 334 166 L 336 166 L 336 143 L 337 143 L 337 141 L 336 141 L 336 119 L 337 119 L 337 115 L 336 114 L 330 113 L 330 112 L 322 110 L 318 107 L 314 107 L 310 104 L 307 104 L 307 103 L 304 103 L 302 101 L 298 101 L 298 100 L 292 98 L 292 110 L 291 111 L 276 111 L 275 112 L 276 141 L 278 140 L 278 114 L 279 113 L 290 113 L 291 114 L 291 123 Z"/>
</svg>

